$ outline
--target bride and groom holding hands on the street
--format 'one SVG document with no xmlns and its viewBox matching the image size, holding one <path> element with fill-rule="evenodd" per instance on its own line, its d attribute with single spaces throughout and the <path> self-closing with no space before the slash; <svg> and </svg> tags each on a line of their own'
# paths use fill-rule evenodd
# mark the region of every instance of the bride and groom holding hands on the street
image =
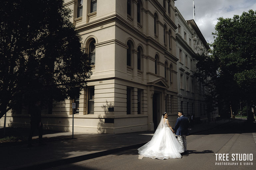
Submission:
<svg viewBox="0 0 256 170">
<path fill-rule="evenodd" d="M 172 128 L 168 121 L 168 114 L 165 112 L 161 116 L 161 121 L 152 139 L 138 148 L 139 159 L 149 157 L 153 159 L 181 158 L 181 153 L 187 153 L 187 139 L 189 120 L 178 112 L 178 119 L 175 127 Z M 175 134 L 178 136 L 176 139 Z"/>
</svg>

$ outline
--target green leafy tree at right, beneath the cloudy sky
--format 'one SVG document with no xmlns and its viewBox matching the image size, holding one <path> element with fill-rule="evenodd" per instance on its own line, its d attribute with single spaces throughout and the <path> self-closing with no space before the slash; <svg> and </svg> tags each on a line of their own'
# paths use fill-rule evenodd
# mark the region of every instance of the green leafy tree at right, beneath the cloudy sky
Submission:
<svg viewBox="0 0 256 170">
<path fill-rule="evenodd" d="M 256 101 L 256 12 L 249 10 L 233 19 L 219 18 L 215 26 L 210 56 L 197 56 L 196 76 L 201 82 L 210 77 L 208 98 L 226 112 L 239 108 L 239 100 Z"/>
</svg>

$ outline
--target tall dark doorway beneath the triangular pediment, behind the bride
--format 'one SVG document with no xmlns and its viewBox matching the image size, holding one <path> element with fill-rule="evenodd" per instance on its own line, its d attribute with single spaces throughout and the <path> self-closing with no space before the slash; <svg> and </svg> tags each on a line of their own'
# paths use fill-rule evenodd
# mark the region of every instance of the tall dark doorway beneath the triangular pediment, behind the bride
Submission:
<svg viewBox="0 0 256 170">
<path fill-rule="evenodd" d="M 153 123 L 154 123 L 154 130 L 156 130 L 159 122 L 160 122 L 160 93 L 154 93 L 152 99 L 152 106 L 153 106 Z"/>
</svg>

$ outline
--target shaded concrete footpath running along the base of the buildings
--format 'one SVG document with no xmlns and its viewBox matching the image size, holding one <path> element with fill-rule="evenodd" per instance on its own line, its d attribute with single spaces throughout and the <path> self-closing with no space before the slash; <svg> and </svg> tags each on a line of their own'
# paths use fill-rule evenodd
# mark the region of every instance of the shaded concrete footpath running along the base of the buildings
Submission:
<svg viewBox="0 0 256 170">
<path fill-rule="evenodd" d="M 220 120 L 195 125 L 190 134 L 212 129 L 228 123 Z M 0 169 L 45 169 L 57 165 L 79 162 L 115 152 L 139 148 L 151 140 L 154 131 L 123 134 L 95 134 L 57 132 L 43 135 L 45 145 L 33 147 L 25 142 L 0 144 Z M 33 137 L 37 138 L 37 137 Z"/>
</svg>

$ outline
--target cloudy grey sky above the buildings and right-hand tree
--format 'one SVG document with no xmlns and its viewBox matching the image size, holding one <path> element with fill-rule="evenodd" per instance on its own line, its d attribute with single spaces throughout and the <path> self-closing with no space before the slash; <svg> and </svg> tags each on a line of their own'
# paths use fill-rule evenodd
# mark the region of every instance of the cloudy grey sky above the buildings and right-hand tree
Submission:
<svg viewBox="0 0 256 170">
<path fill-rule="evenodd" d="M 256 0 L 194 0 L 195 22 L 206 42 L 214 42 L 212 33 L 218 18 L 233 18 L 249 9 L 256 10 Z M 177 0 L 175 6 L 185 20 L 193 19 L 193 0 Z"/>
</svg>

